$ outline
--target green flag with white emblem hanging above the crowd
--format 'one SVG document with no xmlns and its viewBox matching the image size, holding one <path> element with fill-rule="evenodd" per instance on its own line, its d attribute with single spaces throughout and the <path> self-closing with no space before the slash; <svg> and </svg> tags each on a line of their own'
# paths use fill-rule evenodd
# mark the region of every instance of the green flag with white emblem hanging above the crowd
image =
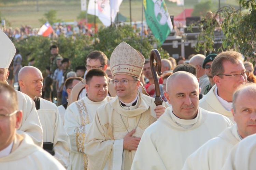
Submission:
<svg viewBox="0 0 256 170">
<path fill-rule="evenodd" d="M 145 18 L 154 36 L 162 44 L 173 26 L 164 0 L 143 0 Z"/>
</svg>

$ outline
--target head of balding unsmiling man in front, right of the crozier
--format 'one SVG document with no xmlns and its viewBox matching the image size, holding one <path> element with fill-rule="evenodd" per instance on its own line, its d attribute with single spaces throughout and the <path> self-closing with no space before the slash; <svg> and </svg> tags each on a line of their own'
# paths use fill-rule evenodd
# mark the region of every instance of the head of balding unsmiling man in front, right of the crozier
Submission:
<svg viewBox="0 0 256 170">
<path fill-rule="evenodd" d="M 199 84 L 196 76 L 179 71 L 168 77 L 165 97 L 180 119 L 194 119 L 198 112 Z"/>
</svg>

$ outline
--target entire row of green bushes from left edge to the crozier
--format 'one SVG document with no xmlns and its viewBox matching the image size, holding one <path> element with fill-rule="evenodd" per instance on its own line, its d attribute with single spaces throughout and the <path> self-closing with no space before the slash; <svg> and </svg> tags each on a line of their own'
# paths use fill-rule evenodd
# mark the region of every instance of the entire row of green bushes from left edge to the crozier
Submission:
<svg viewBox="0 0 256 170">
<path fill-rule="evenodd" d="M 69 38 L 61 35 L 57 39 L 52 39 L 43 36 L 31 36 L 19 42 L 14 42 L 16 48 L 20 50 L 23 57 L 22 65 L 28 65 L 31 58 L 35 58 L 35 67 L 44 71 L 46 66 L 50 65 L 49 58 L 51 57 L 50 46 L 55 44 L 59 47 L 59 54 L 62 57 L 69 58 L 71 68 L 85 65 L 86 56 L 93 50 L 103 51 L 110 58 L 114 48 L 122 41 L 127 42 L 133 48 L 140 51 L 145 58 L 149 58 L 150 51 L 154 48 L 152 44 L 159 42 L 154 38 L 144 38 L 133 32 L 133 28 L 129 25 L 119 27 L 101 28 L 97 33 L 94 41 L 93 37 L 87 35 L 71 36 Z M 167 52 L 163 49 L 158 49 L 162 58 L 167 58 Z M 30 57 L 26 54 L 31 52 Z"/>
</svg>

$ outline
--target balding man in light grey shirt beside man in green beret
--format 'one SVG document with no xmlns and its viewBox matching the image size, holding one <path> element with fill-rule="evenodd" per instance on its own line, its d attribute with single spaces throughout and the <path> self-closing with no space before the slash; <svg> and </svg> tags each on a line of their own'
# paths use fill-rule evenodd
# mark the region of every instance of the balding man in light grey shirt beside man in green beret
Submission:
<svg viewBox="0 0 256 170">
<path fill-rule="evenodd" d="M 205 56 L 197 54 L 189 60 L 189 64 L 194 65 L 197 69 L 197 78 L 199 78 L 200 94 L 203 94 L 205 87 L 210 83 L 208 76 L 205 74 L 205 69 L 202 67 Z"/>
</svg>

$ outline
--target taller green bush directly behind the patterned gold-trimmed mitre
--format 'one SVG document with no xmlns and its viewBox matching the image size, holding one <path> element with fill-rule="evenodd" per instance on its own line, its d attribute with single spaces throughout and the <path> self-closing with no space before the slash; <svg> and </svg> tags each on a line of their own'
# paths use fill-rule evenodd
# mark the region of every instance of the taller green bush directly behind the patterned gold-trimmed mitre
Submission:
<svg viewBox="0 0 256 170">
<path fill-rule="evenodd" d="M 159 44 L 159 41 L 155 37 L 145 37 L 142 40 L 141 36 L 137 35 L 137 33 L 133 32 L 133 28 L 130 25 L 101 28 L 97 33 L 99 42 L 95 42 L 95 49 L 103 51 L 110 58 L 115 47 L 124 41 L 140 51 L 145 58 L 149 58 L 150 51 L 154 48 L 152 44 Z M 158 50 L 162 58 L 169 57 L 166 56 L 166 51 L 163 49 L 158 48 Z"/>
</svg>

